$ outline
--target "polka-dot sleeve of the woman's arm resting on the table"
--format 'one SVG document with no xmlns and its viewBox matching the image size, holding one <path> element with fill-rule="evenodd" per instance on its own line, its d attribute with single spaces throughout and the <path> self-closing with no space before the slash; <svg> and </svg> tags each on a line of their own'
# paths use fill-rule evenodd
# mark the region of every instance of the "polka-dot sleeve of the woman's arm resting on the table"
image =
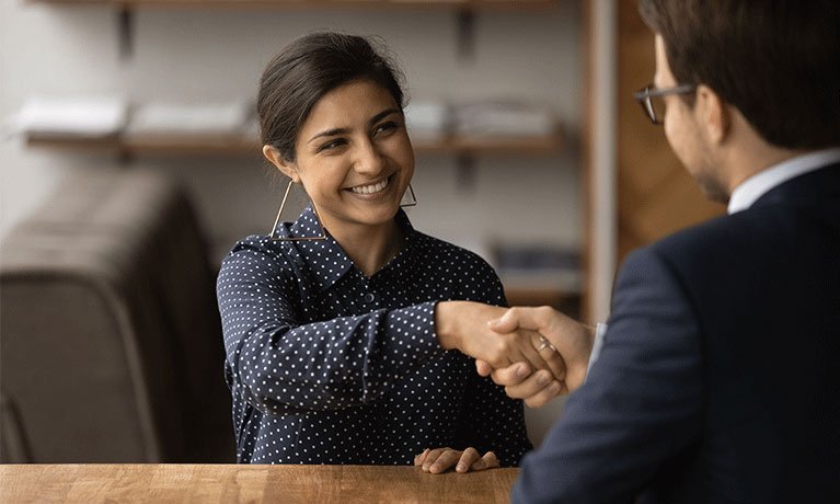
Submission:
<svg viewBox="0 0 840 504">
<path fill-rule="evenodd" d="M 481 261 L 480 272 L 476 278 L 485 285 L 481 289 L 471 289 L 476 294 L 465 295 L 467 300 L 506 307 L 507 300 L 496 273 L 484 261 Z M 475 371 L 474 358 L 468 359 L 465 403 L 458 423 L 458 438 L 462 440 L 462 446 L 457 449 L 473 447 L 482 456 L 493 451 L 499 466 L 519 466 L 519 459 L 532 449 L 522 401 L 507 397 L 504 388 Z"/>
</svg>

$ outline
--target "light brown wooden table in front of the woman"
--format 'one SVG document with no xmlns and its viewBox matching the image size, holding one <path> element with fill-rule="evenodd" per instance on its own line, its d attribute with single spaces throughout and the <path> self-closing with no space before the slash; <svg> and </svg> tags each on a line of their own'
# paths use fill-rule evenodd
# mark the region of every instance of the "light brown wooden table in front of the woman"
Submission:
<svg viewBox="0 0 840 504">
<path fill-rule="evenodd" d="M 508 503 L 518 469 L 427 474 L 413 467 L 0 466 L 0 503 Z"/>
</svg>

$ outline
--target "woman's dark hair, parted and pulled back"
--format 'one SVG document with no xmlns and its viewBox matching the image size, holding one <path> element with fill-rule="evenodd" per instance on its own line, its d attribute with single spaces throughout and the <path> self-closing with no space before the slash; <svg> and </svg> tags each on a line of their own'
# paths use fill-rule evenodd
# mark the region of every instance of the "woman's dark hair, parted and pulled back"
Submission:
<svg viewBox="0 0 840 504">
<path fill-rule="evenodd" d="M 295 142 L 312 107 L 350 81 L 368 80 L 381 87 L 402 108 L 402 73 L 383 54 L 368 38 L 333 32 L 306 35 L 286 46 L 260 79 L 256 111 L 263 145 L 295 161 Z"/>
</svg>

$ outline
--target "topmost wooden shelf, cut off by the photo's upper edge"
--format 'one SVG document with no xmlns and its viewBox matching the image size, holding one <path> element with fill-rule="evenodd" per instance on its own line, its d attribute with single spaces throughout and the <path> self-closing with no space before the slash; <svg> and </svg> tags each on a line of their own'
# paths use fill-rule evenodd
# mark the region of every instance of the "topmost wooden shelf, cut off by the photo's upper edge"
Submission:
<svg viewBox="0 0 840 504">
<path fill-rule="evenodd" d="M 179 7 L 179 8 L 457 8 L 468 10 L 550 9 L 560 0 L 26 0 L 57 5 Z"/>
</svg>

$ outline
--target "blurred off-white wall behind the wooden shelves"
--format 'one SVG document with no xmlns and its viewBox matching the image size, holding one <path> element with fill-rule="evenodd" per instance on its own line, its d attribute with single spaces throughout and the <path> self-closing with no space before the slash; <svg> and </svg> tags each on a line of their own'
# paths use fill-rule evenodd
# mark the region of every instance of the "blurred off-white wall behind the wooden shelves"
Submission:
<svg viewBox="0 0 840 504">
<path fill-rule="evenodd" d="M 136 12 L 135 53 L 120 60 L 115 11 L 0 0 L 0 117 L 31 94 L 117 93 L 145 100 L 255 98 L 264 65 L 314 28 L 384 37 L 414 99 L 527 96 L 575 131 L 580 119 L 580 14 L 568 0 L 550 12 L 479 13 L 475 59 L 457 54 L 457 18 L 445 9 L 200 10 Z M 573 144 L 576 140 L 571 140 Z M 561 156 L 479 159 L 459 187 L 456 160 L 418 156 L 411 210 L 417 229 L 479 252 L 493 239 L 578 245 L 583 236 L 577 149 Z M 193 193 L 218 257 L 240 237 L 271 227 L 280 187 L 257 157 L 141 156 L 133 165 L 173 173 Z M 56 183 L 80 170 L 131 169 L 106 153 L 0 144 L 0 238 Z M 540 439 L 555 412 L 529 414 Z"/>
</svg>

